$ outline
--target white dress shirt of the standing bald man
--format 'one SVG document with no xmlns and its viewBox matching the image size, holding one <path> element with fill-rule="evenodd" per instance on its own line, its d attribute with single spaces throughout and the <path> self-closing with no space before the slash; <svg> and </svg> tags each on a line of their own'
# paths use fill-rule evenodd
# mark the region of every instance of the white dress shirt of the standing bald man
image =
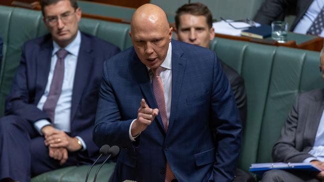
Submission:
<svg viewBox="0 0 324 182">
<path fill-rule="evenodd" d="M 171 68 L 172 68 L 172 64 L 171 64 L 171 57 L 172 57 L 172 45 L 171 42 L 169 43 L 169 48 L 167 49 L 167 53 L 166 53 L 166 57 L 163 61 L 163 63 L 161 64 L 161 67 L 166 68 L 166 70 L 162 71 L 160 74 L 162 83 L 163 83 L 163 92 L 164 92 L 164 99 L 165 99 L 165 109 L 166 109 L 166 117 L 167 117 L 167 124 L 169 123 L 169 118 L 170 118 L 170 112 L 171 112 L 171 95 L 172 95 L 172 72 L 171 72 Z M 148 68 L 149 73 L 150 72 L 150 68 Z M 150 74 L 150 80 L 152 82 L 152 77 L 153 74 Z M 140 102 L 141 100 L 139 100 L 139 106 L 140 106 Z M 154 109 L 154 108 L 153 108 Z M 130 129 L 129 129 L 129 136 L 131 141 L 135 141 L 135 138 L 137 137 L 133 137 L 132 133 L 131 133 L 131 129 L 132 129 L 132 125 L 133 122 L 136 119 L 134 119 L 131 123 Z M 150 126 L 149 126 L 150 127 Z"/>
</svg>

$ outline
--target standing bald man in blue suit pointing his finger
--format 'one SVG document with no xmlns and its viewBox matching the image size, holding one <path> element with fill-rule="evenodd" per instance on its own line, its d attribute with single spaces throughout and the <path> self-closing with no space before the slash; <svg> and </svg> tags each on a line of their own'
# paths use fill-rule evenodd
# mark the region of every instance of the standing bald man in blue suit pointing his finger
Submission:
<svg viewBox="0 0 324 182">
<path fill-rule="evenodd" d="M 134 47 L 104 64 L 93 135 L 121 148 L 111 180 L 231 182 L 241 122 L 215 52 L 171 40 L 153 4 L 136 10 L 130 35 Z"/>
</svg>

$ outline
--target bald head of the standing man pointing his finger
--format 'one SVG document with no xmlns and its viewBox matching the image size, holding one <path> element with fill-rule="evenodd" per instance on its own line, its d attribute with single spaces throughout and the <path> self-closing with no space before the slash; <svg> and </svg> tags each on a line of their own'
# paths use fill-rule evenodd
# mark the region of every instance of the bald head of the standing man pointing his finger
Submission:
<svg viewBox="0 0 324 182">
<path fill-rule="evenodd" d="M 144 4 L 133 14 L 130 36 L 141 62 L 158 68 L 164 61 L 172 37 L 167 17 L 161 7 Z"/>
</svg>

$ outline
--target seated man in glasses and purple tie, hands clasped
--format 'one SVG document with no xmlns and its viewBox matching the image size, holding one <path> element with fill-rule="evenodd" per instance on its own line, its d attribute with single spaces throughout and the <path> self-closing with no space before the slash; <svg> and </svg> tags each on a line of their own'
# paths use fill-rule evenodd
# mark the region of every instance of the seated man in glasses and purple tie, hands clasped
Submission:
<svg viewBox="0 0 324 182">
<path fill-rule="evenodd" d="M 120 49 L 78 30 L 76 0 L 43 0 L 49 34 L 26 42 L 0 119 L 0 181 L 89 164 L 104 60 Z"/>
</svg>

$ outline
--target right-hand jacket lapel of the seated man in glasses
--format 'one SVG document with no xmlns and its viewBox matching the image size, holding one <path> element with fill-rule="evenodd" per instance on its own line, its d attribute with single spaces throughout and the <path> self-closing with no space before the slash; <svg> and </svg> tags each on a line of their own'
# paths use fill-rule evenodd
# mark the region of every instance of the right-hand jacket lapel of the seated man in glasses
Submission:
<svg viewBox="0 0 324 182">
<path fill-rule="evenodd" d="M 91 42 L 86 36 L 81 33 L 81 45 L 78 55 L 78 62 L 76 66 L 74 85 L 72 92 L 72 104 L 71 104 L 71 121 L 74 118 L 75 112 L 78 108 L 82 92 L 86 86 L 88 80 L 89 71 L 94 57 L 91 55 L 92 46 Z"/>
</svg>

